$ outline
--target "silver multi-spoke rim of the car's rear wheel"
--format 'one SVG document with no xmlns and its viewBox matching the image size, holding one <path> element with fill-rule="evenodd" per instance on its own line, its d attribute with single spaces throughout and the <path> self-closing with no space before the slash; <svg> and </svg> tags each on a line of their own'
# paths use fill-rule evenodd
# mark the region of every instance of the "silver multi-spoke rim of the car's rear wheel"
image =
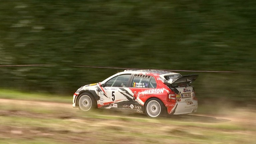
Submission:
<svg viewBox="0 0 256 144">
<path fill-rule="evenodd" d="M 161 105 L 156 100 L 151 100 L 146 106 L 146 111 L 150 117 L 157 117 L 161 113 Z"/>
</svg>

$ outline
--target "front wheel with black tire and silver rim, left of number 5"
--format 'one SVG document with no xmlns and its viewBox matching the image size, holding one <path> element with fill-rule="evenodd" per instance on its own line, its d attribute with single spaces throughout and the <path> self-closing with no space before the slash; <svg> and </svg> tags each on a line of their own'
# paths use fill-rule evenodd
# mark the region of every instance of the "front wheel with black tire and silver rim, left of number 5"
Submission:
<svg viewBox="0 0 256 144">
<path fill-rule="evenodd" d="M 77 105 L 81 111 L 90 111 L 97 108 L 97 102 L 90 93 L 82 93 L 77 98 Z"/>
</svg>

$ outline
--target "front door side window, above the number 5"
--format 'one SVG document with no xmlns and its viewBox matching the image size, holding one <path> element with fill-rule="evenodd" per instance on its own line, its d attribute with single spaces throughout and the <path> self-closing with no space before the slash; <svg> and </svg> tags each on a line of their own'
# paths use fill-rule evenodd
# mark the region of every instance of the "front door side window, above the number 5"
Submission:
<svg viewBox="0 0 256 144">
<path fill-rule="evenodd" d="M 123 74 L 116 77 L 113 77 L 109 81 L 107 81 L 107 87 L 126 87 L 131 74 Z"/>
</svg>

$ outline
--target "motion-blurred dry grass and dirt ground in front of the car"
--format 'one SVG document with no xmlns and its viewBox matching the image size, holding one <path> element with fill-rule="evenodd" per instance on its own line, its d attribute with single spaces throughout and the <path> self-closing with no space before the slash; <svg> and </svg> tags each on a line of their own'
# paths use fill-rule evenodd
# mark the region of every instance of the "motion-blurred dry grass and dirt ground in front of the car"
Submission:
<svg viewBox="0 0 256 144">
<path fill-rule="evenodd" d="M 236 110 L 236 116 L 150 119 L 108 110 L 77 112 L 71 104 L 19 100 L 0 104 L 1 143 L 249 144 L 256 132 L 255 110 Z"/>
</svg>

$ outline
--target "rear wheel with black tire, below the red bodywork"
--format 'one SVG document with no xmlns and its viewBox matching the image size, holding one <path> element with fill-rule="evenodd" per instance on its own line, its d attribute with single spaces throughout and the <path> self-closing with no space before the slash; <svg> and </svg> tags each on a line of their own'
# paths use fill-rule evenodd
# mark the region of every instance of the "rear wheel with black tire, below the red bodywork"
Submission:
<svg viewBox="0 0 256 144">
<path fill-rule="evenodd" d="M 164 103 L 158 98 L 149 99 L 144 105 L 144 112 L 150 118 L 166 115 L 167 110 Z"/>
</svg>

